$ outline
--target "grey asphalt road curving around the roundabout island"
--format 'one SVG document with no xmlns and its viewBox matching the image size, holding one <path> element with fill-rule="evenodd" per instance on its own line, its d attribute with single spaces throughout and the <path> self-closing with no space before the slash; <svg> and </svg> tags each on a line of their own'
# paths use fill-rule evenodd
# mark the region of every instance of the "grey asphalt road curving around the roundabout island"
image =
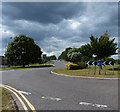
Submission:
<svg viewBox="0 0 120 112">
<path fill-rule="evenodd" d="M 36 110 L 117 110 L 118 80 L 99 80 L 65 77 L 50 71 L 55 67 L 2 72 L 2 83 L 25 95 Z"/>
</svg>

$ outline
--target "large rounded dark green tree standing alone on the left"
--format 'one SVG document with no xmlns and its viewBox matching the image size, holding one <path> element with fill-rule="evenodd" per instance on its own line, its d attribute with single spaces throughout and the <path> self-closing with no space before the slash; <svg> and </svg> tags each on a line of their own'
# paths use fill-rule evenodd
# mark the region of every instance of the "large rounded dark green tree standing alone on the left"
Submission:
<svg viewBox="0 0 120 112">
<path fill-rule="evenodd" d="M 29 65 L 39 62 L 41 48 L 35 44 L 34 39 L 25 35 L 19 35 L 8 44 L 5 57 L 9 65 Z"/>
</svg>

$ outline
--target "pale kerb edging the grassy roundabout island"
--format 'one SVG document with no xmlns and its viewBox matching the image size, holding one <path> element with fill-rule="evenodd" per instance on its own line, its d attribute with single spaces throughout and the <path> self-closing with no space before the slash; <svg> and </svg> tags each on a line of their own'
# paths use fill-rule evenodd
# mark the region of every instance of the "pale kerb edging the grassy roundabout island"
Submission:
<svg viewBox="0 0 120 112">
<path fill-rule="evenodd" d="M 71 75 L 65 75 L 65 74 L 58 74 L 53 71 L 50 71 L 50 73 L 59 75 L 59 76 L 65 76 L 65 77 L 73 77 L 73 78 L 84 78 L 84 79 L 102 79 L 102 80 L 118 80 L 120 78 L 101 78 L 101 77 L 84 77 L 84 76 L 71 76 Z"/>
</svg>

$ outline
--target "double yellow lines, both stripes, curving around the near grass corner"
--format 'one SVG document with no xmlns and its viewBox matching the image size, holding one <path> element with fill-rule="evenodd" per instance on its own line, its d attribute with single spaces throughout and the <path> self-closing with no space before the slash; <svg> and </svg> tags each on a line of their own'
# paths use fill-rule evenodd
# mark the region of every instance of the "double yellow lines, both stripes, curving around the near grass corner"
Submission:
<svg viewBox="0 0 120 112">
<path fill-rule="evenodd" d="M 8 86 L 8 85 L 2 85 L 2 84 L 0 84 L 0 86 L 8 89 L 8 90 L 11 91 L 13 94 L 15 94 L 16 97 L 18 98 L 18 100 L 21 102 L 21 104 L 23 104 L 22 99 L 19 97 L 19 95 L 20 95 L 20 96 L 24 99 L 24 101 L 26 101 L 26 103 L 27 103 L 27 105 L 30 107 L 30 109 L 31 109 L 33 112 L 36 112 L 34 106 L 28 101 L 28 99 L 27 99 L 21 92 L 19 92 L 19 91 L 16 90 L 15 88 L 10 87 L 10 86 Z M 19 94 L 19 95 L 18 95 L 18 94 Z M 20 99 L 21 99 L 21 100 L 20 100 Z M 27 107 L 25 107 L 25 106 L 26 106 L 25 104 L 23 104 L 22 106 L 24 107 L 24 110 L 26 110 L 26 112 L 29 112 L 28 109 L 27 109 Z"/>
</svg>

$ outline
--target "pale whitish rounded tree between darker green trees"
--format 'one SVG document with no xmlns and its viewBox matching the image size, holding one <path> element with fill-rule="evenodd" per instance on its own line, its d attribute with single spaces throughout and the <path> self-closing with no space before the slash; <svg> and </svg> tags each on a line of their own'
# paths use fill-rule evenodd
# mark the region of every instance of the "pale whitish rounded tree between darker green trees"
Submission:
<svg viewBox="0 0 120 112">
<path fill-rule="evenodd" d="M 82 54 L 77 48 L 73 48 L 68 51 L 67 56 L 70 62 L 78 63 L 81 61 Z"/>
</svg>

